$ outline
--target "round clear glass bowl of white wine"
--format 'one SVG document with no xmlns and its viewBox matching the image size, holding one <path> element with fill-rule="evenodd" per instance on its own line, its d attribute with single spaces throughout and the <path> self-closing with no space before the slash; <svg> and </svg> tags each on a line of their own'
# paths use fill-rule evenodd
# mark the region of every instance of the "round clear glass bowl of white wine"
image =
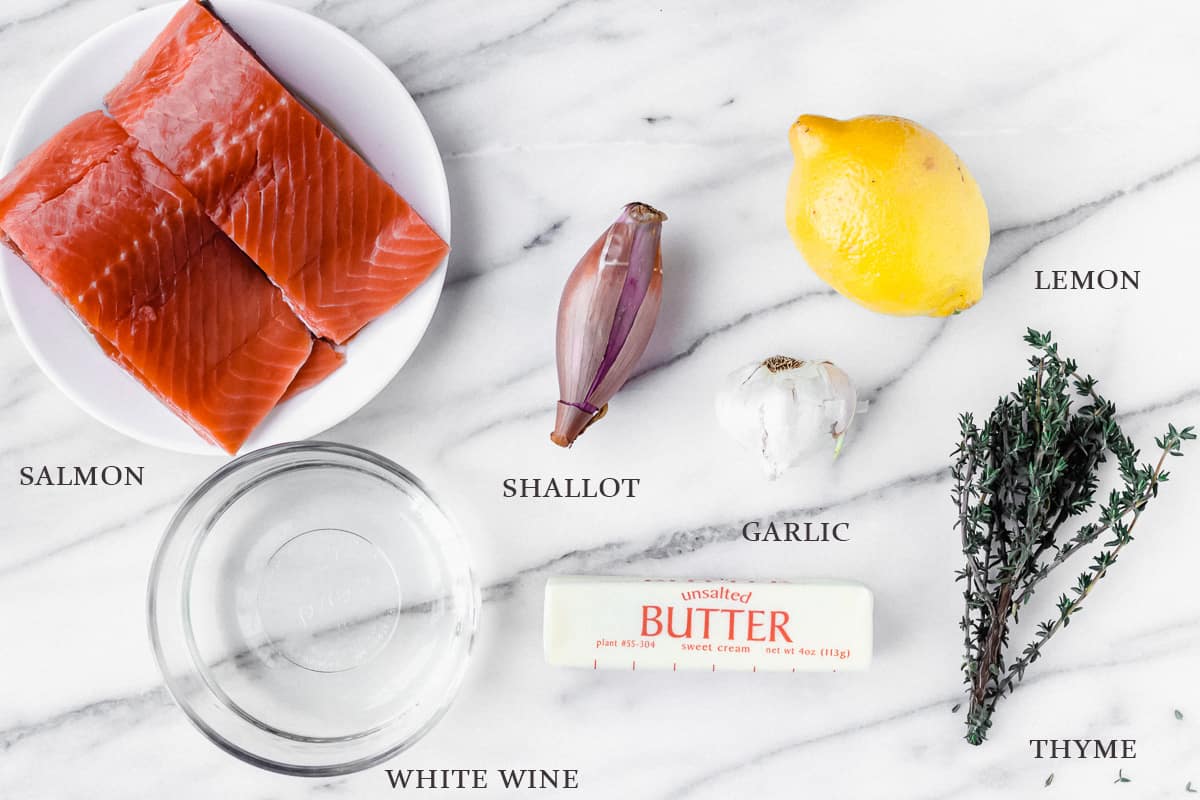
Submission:
<svg viewBox="0 0 1200 800">
<path fill-rule="evenodd" d="M 290 775 L 366 769 L 462 681 L 479 593 L 418 480 L 367 450 L 266 447 L 184 501 L 150 573 L 150 639 L 209 739 Z"/>
</svg>

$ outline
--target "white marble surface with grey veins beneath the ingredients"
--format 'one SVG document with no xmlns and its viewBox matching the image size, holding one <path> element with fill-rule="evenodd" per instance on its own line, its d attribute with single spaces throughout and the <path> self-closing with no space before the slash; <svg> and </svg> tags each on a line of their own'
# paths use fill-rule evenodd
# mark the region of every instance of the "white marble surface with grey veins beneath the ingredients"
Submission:
<svg viewBox="0 0 1200 800">
<path fill-rule="evenodd" d="M 326 434 L 449 498 L 486 587 L 457 703 L 389 766 L 574 768 L 583 789 L 565 796 L 664 800 L 1145 799 L 1200 786 L 1200 452 L 1176 465 L 1138 543 L 980 748 L 950 714 L 960 557 L 947 475 L 955 414 L 986 411 L 1014 383 L 1027 324 L 1104 378 L 1147 447 L 1168 421 L 1200 422 L 1200 7 L 289 1 L 395 70 L 451 181 L 455 251 L 433 326 L 400 378 Z M 0 138 L 59 59 L 139 7 L 6 0 Z M 803 112 L 902 114 L 960 152 L 994 230 L 978 307 L 949 321 L 877 317 L 806 270 L 781 221 L 786 131 Z M 564 452 L 547 441 L 558 293 L 632 199 L 671 215 L 665 311 L 642 374 Z M 1141 289 L 1033 291 L 1033 270 L 1055 266 L 1140 269 Z M 716 432 L 712 392 L 778 351 L 835 360 L 872 407 L 835 467 L 767 485 Z M 190 727 L 150 655 L 145 579 L 172 510 L 220 461 L 92 421 L 6 320 L 0 366 L 0 798 L 397 794 L 382 769 L 262 772 Z M 146 485 L 17 486 L 22 465 L 107 463 L 145 465 Z M 502 499 L 500 481 L 520 475 L 629 475 L 642 492 Z M 751 518 L 846 521 L 853 541 L 751 546 L 737 535 Z M 854 577 L 876 591 L 875 666 L 551 669 L 540 603 L 557 572 Z M 1136 738 L 1136 760 L 1121 764 L 1133 783 L 1112 783 L 1114 762 L 1033 760 L 1027 740 L 1048 736 Z"/>
</svg>

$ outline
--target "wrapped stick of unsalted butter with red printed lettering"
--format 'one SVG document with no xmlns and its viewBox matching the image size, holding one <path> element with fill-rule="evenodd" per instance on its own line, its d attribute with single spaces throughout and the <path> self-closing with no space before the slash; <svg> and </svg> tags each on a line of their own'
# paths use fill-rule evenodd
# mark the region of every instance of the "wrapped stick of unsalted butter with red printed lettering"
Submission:
<svg viewBox="0 0 1200 800">
<path fill-rule="evenodd" d="M 860 583 L 553 577 L 546 661 L 589 669 L 836 672 L 871 663 Z"/>
</svg>

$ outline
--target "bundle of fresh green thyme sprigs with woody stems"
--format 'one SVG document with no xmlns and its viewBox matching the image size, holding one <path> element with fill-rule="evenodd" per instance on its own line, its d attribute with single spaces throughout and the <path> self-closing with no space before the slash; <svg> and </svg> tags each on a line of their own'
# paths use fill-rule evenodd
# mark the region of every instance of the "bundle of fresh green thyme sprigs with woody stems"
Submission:
<svg viewBox="0 0 1200 800">
<path fill-rule="evenodd" d="M 983 427 L 964 414 L 962 441 L 954 451 L 953 499 L 966 557 L 958 572 L 966 584 L 966 739 L 973 745 L 986 738 L 1000 699 L 1024 678 L 1045 643 L 1070 624 L 1133 541 L 1146 504 L 1168 480 L 1166 457 L 1182 456 L 1182 443 L 1195 439 L 1193 428 L 1169 426 L 1156 439 L 1162 451 L 1157 463 L 1139 464 L 1139 451 L 1121 431 L 1114 404 L 1096 392 L 1096 379 L 1080 377 L 1075 362 L 1058 355 L 1049 332 L 1030 329 L 1025 341 L 1038 350 L 1030 359 L 1030 375 L 1000 399 Z M 1123 488 L 1109 494 L 1093 522 L 1060 534 L 1093 507 L 1097 470 L 1110 455 Z M 1016 624 L 1034 589 L 1096 541 L 1103 541 L 1099 554 L 1058 599 L 1057 616 L 1040 622 L 1020 655 L 1007 658 L 1009 625 Z"/>
</svg>

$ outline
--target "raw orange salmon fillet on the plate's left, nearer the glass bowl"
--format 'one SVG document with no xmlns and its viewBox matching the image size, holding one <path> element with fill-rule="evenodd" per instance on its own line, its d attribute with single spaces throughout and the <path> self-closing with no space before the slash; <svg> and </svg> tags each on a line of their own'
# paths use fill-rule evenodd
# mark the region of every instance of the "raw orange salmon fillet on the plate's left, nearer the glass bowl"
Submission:
<svg viewBox="0 0 1200 800">
<path fill-rule="evenodd" d="M 0 181 L 0 230 L 109 356 L 230 453 L 312 350 L 278 289 L 100 112 Z"/>
</svg>

